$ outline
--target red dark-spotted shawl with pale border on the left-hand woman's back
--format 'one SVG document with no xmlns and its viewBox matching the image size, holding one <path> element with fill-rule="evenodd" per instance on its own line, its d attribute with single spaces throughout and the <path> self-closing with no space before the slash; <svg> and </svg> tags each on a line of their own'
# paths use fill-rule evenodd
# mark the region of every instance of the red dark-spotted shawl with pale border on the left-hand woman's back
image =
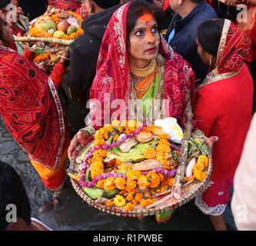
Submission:
<svg viewBox="0 0 256 246">
<path fill-rule="evenodd" d="M 52 78 L 17 52 L 0 46 L 0 114 L 28 154 L 48 168 L 58 167 L 65 124 Z"/>
</svg>

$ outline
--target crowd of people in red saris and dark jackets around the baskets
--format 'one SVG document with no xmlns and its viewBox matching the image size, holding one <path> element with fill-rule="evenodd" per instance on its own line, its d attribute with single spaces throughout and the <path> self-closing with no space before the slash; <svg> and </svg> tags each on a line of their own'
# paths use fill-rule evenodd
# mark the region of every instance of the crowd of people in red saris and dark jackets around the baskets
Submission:
<svg viewBox="0 0 256 246">
<path fill-rule="evenodd" d="M 5 21 L 9 4 L 19 9 L 15 23 Z M 235 4 L 234 0 L 231 5 Z M 250 13 L 256 9 L 254 0 L 246 4 Z M 254 193 L 254 171 L 250 173 L 254 151 L 250 150 L 254 148 L 255 124 L 251 123 L 256 81 L 255 20 L 249 27 L 232 22 L 219 14 L 214 1 L 204 0 L 49 0 L 42 5 L 77 12 L 84 18 L 81 27 L 85 33 L 72 43 L 70 58 L 66 49 L 52 74 L 47 75 L 33 64 L 33 54 L 20 51 L 14 41 L 14 35 L 24 35 L 28 30 L 22 16 L 28 15 L 28 6 L 32 5 L 21 9 L 17 1 L 0 0 L 0 115 L 12 137 L 28 153 L 45 187 L 54 192 L 52 202 L 58 203 L 65 161 L 71 159 L 78 144 L 84 144 L 106 118 L 131 117 L 129 110 L 135 108 L 133 117 L 148 123 L 171 116 L 184 127 L 191 120 L 188 115 L 194 115 L 194 128 L 215 141 L 211 186 L 198 195 L 195 204 L 209 215 L 216 230 L 227 229 L 224 211 L 236 171 L 233 211 L 239 204 L 248 204 L 248 217 L 255 213 L 249 205 L 254 204 L 249 192 Z M 250 16 L 255 19 L 256 12 Z M 77 133 L 69 131 L 68 115 L 58 97 L 62 85 L 67 85 L 68 97 L 82 107 L 91 102 L 81 114 L 85 127 Z M 110 103 L 121 100 L 127 110 L 119 115 L 111 108 L 106 110 L 105 95 Z M 100 102 L 100 108 L 93 105 L 94 100 Z M 154 101 L 160 101 L 157 115 L 152 114 Z M 12 191 L 5 186 L 8 174 L 17 180 Z M 251 176 L 250 184 L 244 182 L 247 175 Z M 23 187 L 21 181 L 2 163 L 0 181 L 0 229 L 35 229 L 25 191 L 18 192 Z M 20 205 L 18 225 L 3 221 L 8 192 L 12 192 L 12 203 L 21 202 L 15 195 L 26 201 Z M 7 203 L 2 205 L 2 201 Z M 235 221 L 238 229 L 256 229 L 251 219 L 249 225 Z M 47 229 L 43 224 L 38 226 Z"/>
</svg>

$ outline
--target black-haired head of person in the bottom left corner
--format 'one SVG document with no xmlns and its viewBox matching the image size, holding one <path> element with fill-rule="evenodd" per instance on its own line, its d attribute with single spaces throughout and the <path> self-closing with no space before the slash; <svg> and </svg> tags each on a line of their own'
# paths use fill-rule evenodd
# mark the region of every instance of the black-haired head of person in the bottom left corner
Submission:
<svg viewBox="0 0 256 246">
<path fill-rule="evenodd" d="M 15 204 L 17 218 L 22 218 L 28 225 L 31 224 L 31 208 L 22 179 L 12 166 L 0 161 L 0 231 L 8 226 L 8 204 Z"/>
</svg>

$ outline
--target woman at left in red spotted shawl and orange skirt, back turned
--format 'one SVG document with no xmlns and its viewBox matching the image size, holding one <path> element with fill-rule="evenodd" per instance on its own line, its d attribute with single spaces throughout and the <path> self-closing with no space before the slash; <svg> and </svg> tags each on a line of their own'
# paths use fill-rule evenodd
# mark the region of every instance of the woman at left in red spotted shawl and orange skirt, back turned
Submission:
<svg viewBox="0 0 256 246">
<path fill-rule="evenodd" d="M 45 187 L 62 188 L 68 132 L 57 88 L 65 72 L 60 61 L 48 78 L 27 58 L 8 48 L 10 25 L 0 18 L 0 115 L 27 153 Z"/>
</svg>

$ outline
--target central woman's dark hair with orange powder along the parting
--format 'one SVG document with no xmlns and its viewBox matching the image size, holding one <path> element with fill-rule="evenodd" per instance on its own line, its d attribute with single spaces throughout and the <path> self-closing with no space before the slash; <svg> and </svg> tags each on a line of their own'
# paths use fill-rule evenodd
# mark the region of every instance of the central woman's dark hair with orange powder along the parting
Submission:
<svg viewBox="0 0 256 246">
<path fill-rule="evenodd" d="M 126 16 L 126 42 L 128 46 L 130 45 L 129 37 L 132 29 L 135 28 L 137 19 L 144 14 L 151 14 L 153 17 L 155 17 L 154 11 L 155 7 L 153 2 L 152 4 L 145 0 L 135 0 L 131 2 Z"/>
</svg>

